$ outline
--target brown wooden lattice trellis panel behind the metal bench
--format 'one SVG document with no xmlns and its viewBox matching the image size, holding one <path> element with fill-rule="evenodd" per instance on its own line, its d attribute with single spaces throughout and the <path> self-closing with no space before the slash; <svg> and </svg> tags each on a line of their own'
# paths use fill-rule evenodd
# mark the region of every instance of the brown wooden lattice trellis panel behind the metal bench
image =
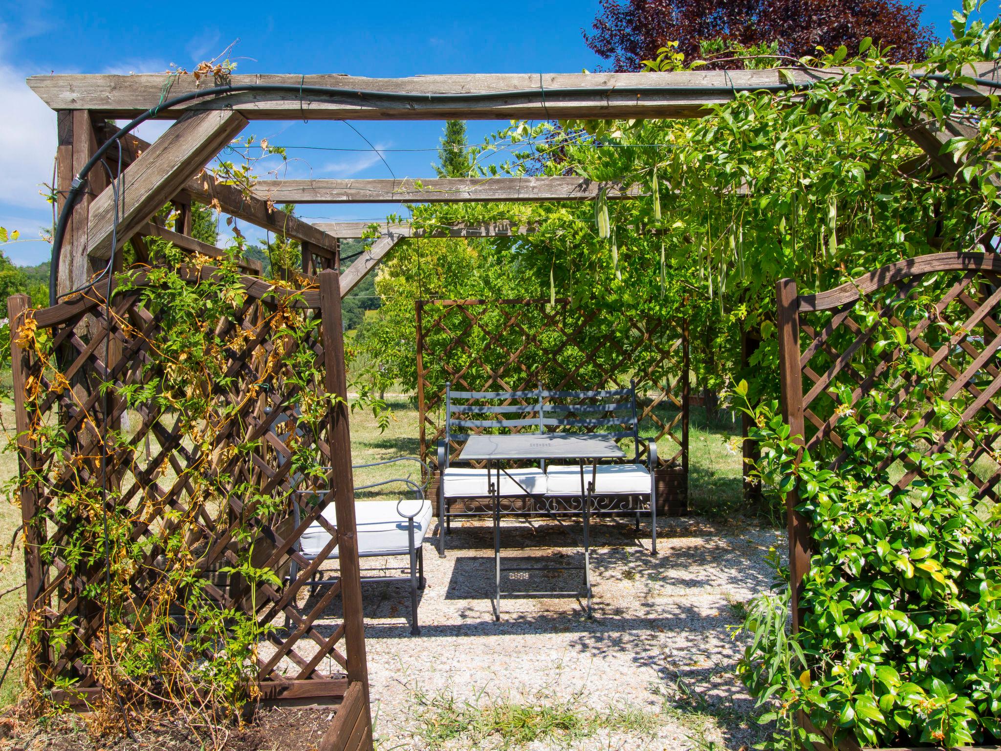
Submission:
<svg viewBox="0 0 1001 751">
<path fill-rule="evenodd" d="M 656 429 L 665 491 L 687 502 L 688 331 L 683 321 L 582 311 L 568 298 L 418 300 L 420 454 L 436 466 L 445 384 L 458 391 L 555 391 L 637 384 L 641 428 Z M 664 418 L 659 408 L 677 413 Z M 665 440 L 665 441 L 662 441 Z M 667 443 L 668 446 L 663 446 Z M 673 447 L 673 449 L 671 448 Z M 453 444 L 452 458 L 461 450 Z M 641 457 L 646 450 L 641 450 Z M 664 498 L 664 494 L 659 494 Z M 671 499 L 668 499 L 669 502 Z"/>
</svg>

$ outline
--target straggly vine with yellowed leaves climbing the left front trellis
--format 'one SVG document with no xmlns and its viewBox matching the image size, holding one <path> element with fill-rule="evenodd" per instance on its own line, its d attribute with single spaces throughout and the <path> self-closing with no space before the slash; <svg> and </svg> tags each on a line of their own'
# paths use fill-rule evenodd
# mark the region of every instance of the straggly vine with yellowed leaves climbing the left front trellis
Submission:
<svg viewBox="0 0 1001 751">
<path fill-rule="evenodd" d="M 108 722 L 127 729 L 165 703 L 211 736 L 220 717 L 258 698 L 260 648 L 276 628 L 258 620 L 256 598 L 282 584 L 262 552 L 288 491 L 266 492 L 249 459 L 267 456 L 276 432 L 298 482 L 326 482 L 317 446 L 337 398 L 323 388 L 320 320 L 300 304 L 303 290 L 275 283 L 258 299 L 234 251 L 191 256 L 164 241 L 151 250 L 154 263 L 118 276 L 109 308 L 142 341 L 141 365 L 105 376 L 98 399 L 66 377 L 64 334 L 30 312 L 17 333 L 37 362 L 18 440 L 39 453 L 14 490 L 40 491 L 46 513 L 32 524 L 56 530 L 40 550 L 55 611 L 29 623 L 26 669 L 42 679 L 31 682 L 36 699 L 72 697 L 80 673 L 64 655 L 75 655 L 104 690 L 95 709 Z M 103 333 L 92 346 L 107 351 Z M 52 410 L 59 402 L 71 420 Z M 251 438 L 279 405 L 293 419 Z"/>
</svg>

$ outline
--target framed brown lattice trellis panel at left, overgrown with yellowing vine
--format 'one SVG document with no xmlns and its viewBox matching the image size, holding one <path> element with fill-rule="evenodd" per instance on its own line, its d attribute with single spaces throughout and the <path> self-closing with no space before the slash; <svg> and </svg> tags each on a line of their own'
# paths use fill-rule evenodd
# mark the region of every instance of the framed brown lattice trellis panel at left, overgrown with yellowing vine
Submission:
<svg viewBox="0 0 1001 751">
<path fill-rule="evenodd" d="M 210 269 L 184 271 L 189 281 L 194 281 L 199 273 L 210 272 Z M 322 321 L 309 329 L 309 338 L 303 345 L 311 352 L 317 371 L 323 373 L 321 383 L 309 384 L 308 388 L 316 394 L 343 397 L 346 384 L 337 274 L 324 271 L 319 281 L 318 292 L 315 289 L 301 292 L 293 303 L 306 316 Z M 22 477 L 33 470 L 38 476 L 48 478 L 45 483 L 23 484 L 21 493 L 28 606 L 43 620 L 48 631 L 60 624 L 75 625 L 72 633 L 58 644 L 43 641 L 38 677 L 49 684 L 56 680 L 73 681 L 69 696 L 75 699 L 93 700 L 101 692 L 87 655 L 100 649 L 95 639 L 104 628 L 103 606 L 88 587 L 102 580 L 105 568 L 102 561 L 71 564 L 69 552 L 60 542 L 76 520 L 72 514 L 67 517 L 66 510 L 57 505 L 60 495 L 79 487 L 81 481 L 100 485 L 106 480 L 115 490 L 108 496 L 107 514 L 116 520 L 128 520 L 128 542 L 142 551 L 142 560 L 128 579 L 135 602 L 144 602 L 144 598 L 163 585 L 162 557 L 167 536 L 177 529 L 179 520 L 194 520 L 185 544 L 192 556 L 191 570 L 206 580 L 205 607 L 241 611 L 263 629 L 255 657 L 262 698 L 336 702 L 356 685 L 364 698 L 367 717 L 367 675 L 345 405 L 338 403 L 327 408 L 317 423 L 321 426 L 318 435 L 290 431 L 288 426 L 280 429 L 283 422 L 294 420 L 290 400 L 302 387 L 286 380 L 287 370 L 274 368 L 274 352 L 279 335 L 285 352 L 295 343 L 265 323 L 274 309 L 273 295 L 278 292 L 273 292 L 266 282 L 249 277 L 244 277 L 247 295 L 235 319 L 220 323 L 217 329 L 220 337 L 239 343 L 227 347 L 225 378 L 219 379 L 206 395 L 218 408 L 214 414 L 227 416 L 212 435 L 210 446 L 194 446 L 182 439 L 180 428 L 184 416 L 162 404 L 143 403 L 126 411 L 124 400 L 105 400 L 102 384 L 114 384 L 110 393 L 115 394 L 121 389 L 148 384 L 162 372 L 160 360 L 150 356 L 150 340 L 155 340 L 160 321 L 143 302 L 145 283 L 144 277 L 140 277 L 137 288 L 116 294 L 110 315 L 105 314 L 104 302 L 94 289 L 73 301 L 30 314 L 38 329 L 44 330 L 56 344 L 58 374 L 54 374 L 51 365 L 44 367 L 35 352 L 25 351 L 16 341 L 12 346 Z M 15 340 L 16 331 L 26 319 L 26 306 L 24 295 L 16 295 L 9 301 Z M 112 344 L 105 355 L 109 329 Z M 239 329 L 241 335 L 230 336 Z M 269 358 L 272 366 L 265 368 Z M 262 373 L 266 377 L 262 378 Z M 56 387 L 53 382 L 60 376 L 71 388 Z M 40 401 L 26 399 L 35 385 L 46 395 Z M 107 450 L 103 451 L 99 427 L 105 420 L 113 430 L 108 432 Z M 31 440 L 39 427 L 56 423 L 66 429 L 69 440 L 65 446 Z M 252 445 L 250 442 L 259 442 L 258 448 L 248 453 L 227 451 L 235 444 Z M 326 478 L 310 481 L 314 485 L 307 487 L 332 489 L 320 496 L 318 503 L 303 507 L 297 526 L 293 524 L 288 501 L 293 442 L 307 447 L 314 445 L 320 463 L 330 468 Z M 70 467 L 75 468 L 76 478 L 71 477 L 68 469 L 55 473 L 58 468 Z M 245 505 L 246 499 L 239 493 L 226 492 L 220 494 L 217 503 L 206 503 L 203 496 L 193 493 L 194 485 L 206 480 L 218 481 L 228 490 L 249 483 L 262 496 L 279 499 L 281 503 L 277 504 L 277 511 L 260 515 L 250 513 L 253 509 Z M 320 517 L 331 503 L 336 505 L 337 529 Z M 304 587 L 327 555 L 308 561 L 296 552 L 294 544 L 317 521 L 330 535 L 324 554 L 338 549 L 340 576 L 334 584 L 320 587 L 306 599 Z M 246 530 L 247 526 L 249 542 L 245 537 L 234 538 L 238 529 Z M 245 546 L 250 543 L 254 546 L 253 565 L 273 572 L 281 584 L 258 581 L 252 587 L 246 580 L 220 571 L 237 566 L 238 555 L 246 554 Z M 288 571 L 293 559 L 298 564 L 298 573 L 290 580 Z M 329 574 L 325 572 L 326 576 Z M 338 598 L 342 601 L 343 615 L 331 620 L 328 609 Z M 264 629 L 265 626 L 274 628 Z M 183 649 L 186 639 L 183 612 L 175 613 L 172 634 L 177 649 Z"/>
</svg>

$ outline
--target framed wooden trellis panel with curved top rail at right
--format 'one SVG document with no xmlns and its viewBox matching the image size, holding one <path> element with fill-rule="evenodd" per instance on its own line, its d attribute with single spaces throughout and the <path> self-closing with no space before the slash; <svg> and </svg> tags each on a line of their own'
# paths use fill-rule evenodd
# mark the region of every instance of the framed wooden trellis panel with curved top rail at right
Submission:
<svg viewBox="0 0 1001 751">
<path fill-rule="evenodd" d="M 890 394 L 897 416 L 903 418 L 905 406 L 920 414 L 910 430 L 926 456 L 956 439 L 967 445 L 966 474 L 978 499 L 997 503 L 1001 457 L 996 433 L 985 426 L 1001 423 L 999 279 L 1001 255 L 937 253 L 891 263 L 818 294 L 798 295 L 795 281 L 779 281 L 783 414 L 792 435 L 803 436 L 811 456 L 837 470 L 848 456 L 835 428 L 839 416 L 873 391 Z M 877 341 L 877 330 L 888 326 L 902 344 Z M 906 351 L 925 359 L 906 377 L 891 379 L 891 362 Z M 961 411 L 947 429 L 935 425 L 940 401 Z M 927 428 L 930 436 L 919 433 Z M 907 488 L 916 477 L 916 471 L 904 472 L 896 486 Z M 789 494 L 794 582 L 802 582 L 810 562 L 809 527 L 794 511 L 798 503 Z M 797 603 L 794 592 L 794 623 Z"/>
</svg>

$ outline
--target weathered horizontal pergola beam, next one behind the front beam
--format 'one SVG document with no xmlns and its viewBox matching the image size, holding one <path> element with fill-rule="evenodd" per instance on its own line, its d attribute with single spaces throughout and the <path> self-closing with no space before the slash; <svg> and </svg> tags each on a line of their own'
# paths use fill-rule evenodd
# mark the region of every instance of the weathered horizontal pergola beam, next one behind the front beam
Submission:
<svg viewBox="0 0 1001 751">
<path fill-rule="evenodd" d="M 603 188 L 610 200 L 641 195 L 639 185 L 575 176 L 259 180 L 253 192 L 272 203 L 495 203 L 591 200 Z"/>
</svg>

